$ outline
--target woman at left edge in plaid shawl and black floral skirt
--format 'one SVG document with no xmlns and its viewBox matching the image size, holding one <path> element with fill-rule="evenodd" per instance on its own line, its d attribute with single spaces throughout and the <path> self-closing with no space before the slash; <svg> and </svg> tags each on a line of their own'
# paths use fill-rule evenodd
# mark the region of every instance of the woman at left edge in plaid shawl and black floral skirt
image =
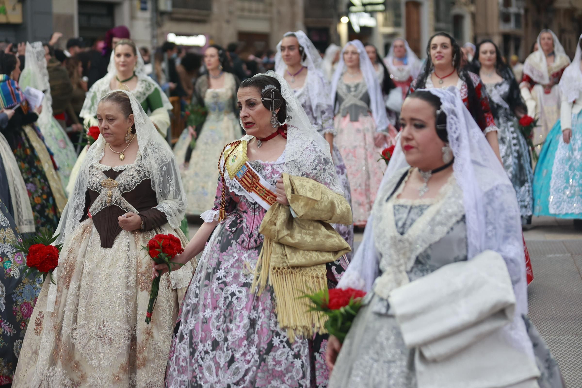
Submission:
<svg viewBox="0 0 582 388">
<path fill-rule="evenodd" d="M 42 111 L 39 105 L 30 111 L 29 104 L 16 80 L 20 76 L 20 59 L 12 54 L 0 54 L 0 108 L 14 109 L 15 114 L 1 129 L 16 158 L 26 184 L 36 227 L 55 230 L 66 197 L 61 178 L 55 171 L 40 130 L 34 125 Z"/>
</svg>

